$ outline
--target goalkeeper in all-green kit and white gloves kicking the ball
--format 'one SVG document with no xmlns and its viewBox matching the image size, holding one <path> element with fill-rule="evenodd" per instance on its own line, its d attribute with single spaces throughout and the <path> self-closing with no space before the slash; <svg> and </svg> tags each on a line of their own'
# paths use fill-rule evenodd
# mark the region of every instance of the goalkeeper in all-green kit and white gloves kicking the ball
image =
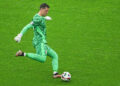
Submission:
<svg viewBox="0 0 120 86">
<path fill-rule="evenodd" d="M 47 45 L 46 41 L 45 21 L 51 20 L 51 17 L 46 16 L 49 8 L 49 5 L 46 3 L 41 4 L 40 11 L 33 17 L 32 22 L 26 25 L 22 31 L 14 38 L 14 40 L 19 43 L 25 32 L 30 28 L 33 28 L 33 46 L 36 50 L 36 53 L 25 53 L 19 50 L 16 53 L 16 56 L 26 56 L 41 63 L 44 63 L 46 61 L 46 57 L 50 56 L 52 58 L 53 78 L 60 78 L 61 75 L 58 74 L 58 55 L 52 48 Z"/>
</svg>

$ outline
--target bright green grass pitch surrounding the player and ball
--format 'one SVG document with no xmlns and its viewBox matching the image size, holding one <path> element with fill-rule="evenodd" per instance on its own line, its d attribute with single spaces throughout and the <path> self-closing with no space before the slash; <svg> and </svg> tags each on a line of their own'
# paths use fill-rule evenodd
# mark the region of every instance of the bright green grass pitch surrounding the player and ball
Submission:
<svg viewBox="0 0 120 86">
<path fill-rule="evenodd" d="M 35 52 L 33 31 L 20 44 L 13 38 L 39 5 L 51 8 L 47 41 L 59 55 L 59 72 L 70 82 L 52 78 L 51 59 L 42 64 L 16 58 L 17 50 Z M 119 0 L 0 0 L 0 86 L 120 86 Z"/>
</svg>

